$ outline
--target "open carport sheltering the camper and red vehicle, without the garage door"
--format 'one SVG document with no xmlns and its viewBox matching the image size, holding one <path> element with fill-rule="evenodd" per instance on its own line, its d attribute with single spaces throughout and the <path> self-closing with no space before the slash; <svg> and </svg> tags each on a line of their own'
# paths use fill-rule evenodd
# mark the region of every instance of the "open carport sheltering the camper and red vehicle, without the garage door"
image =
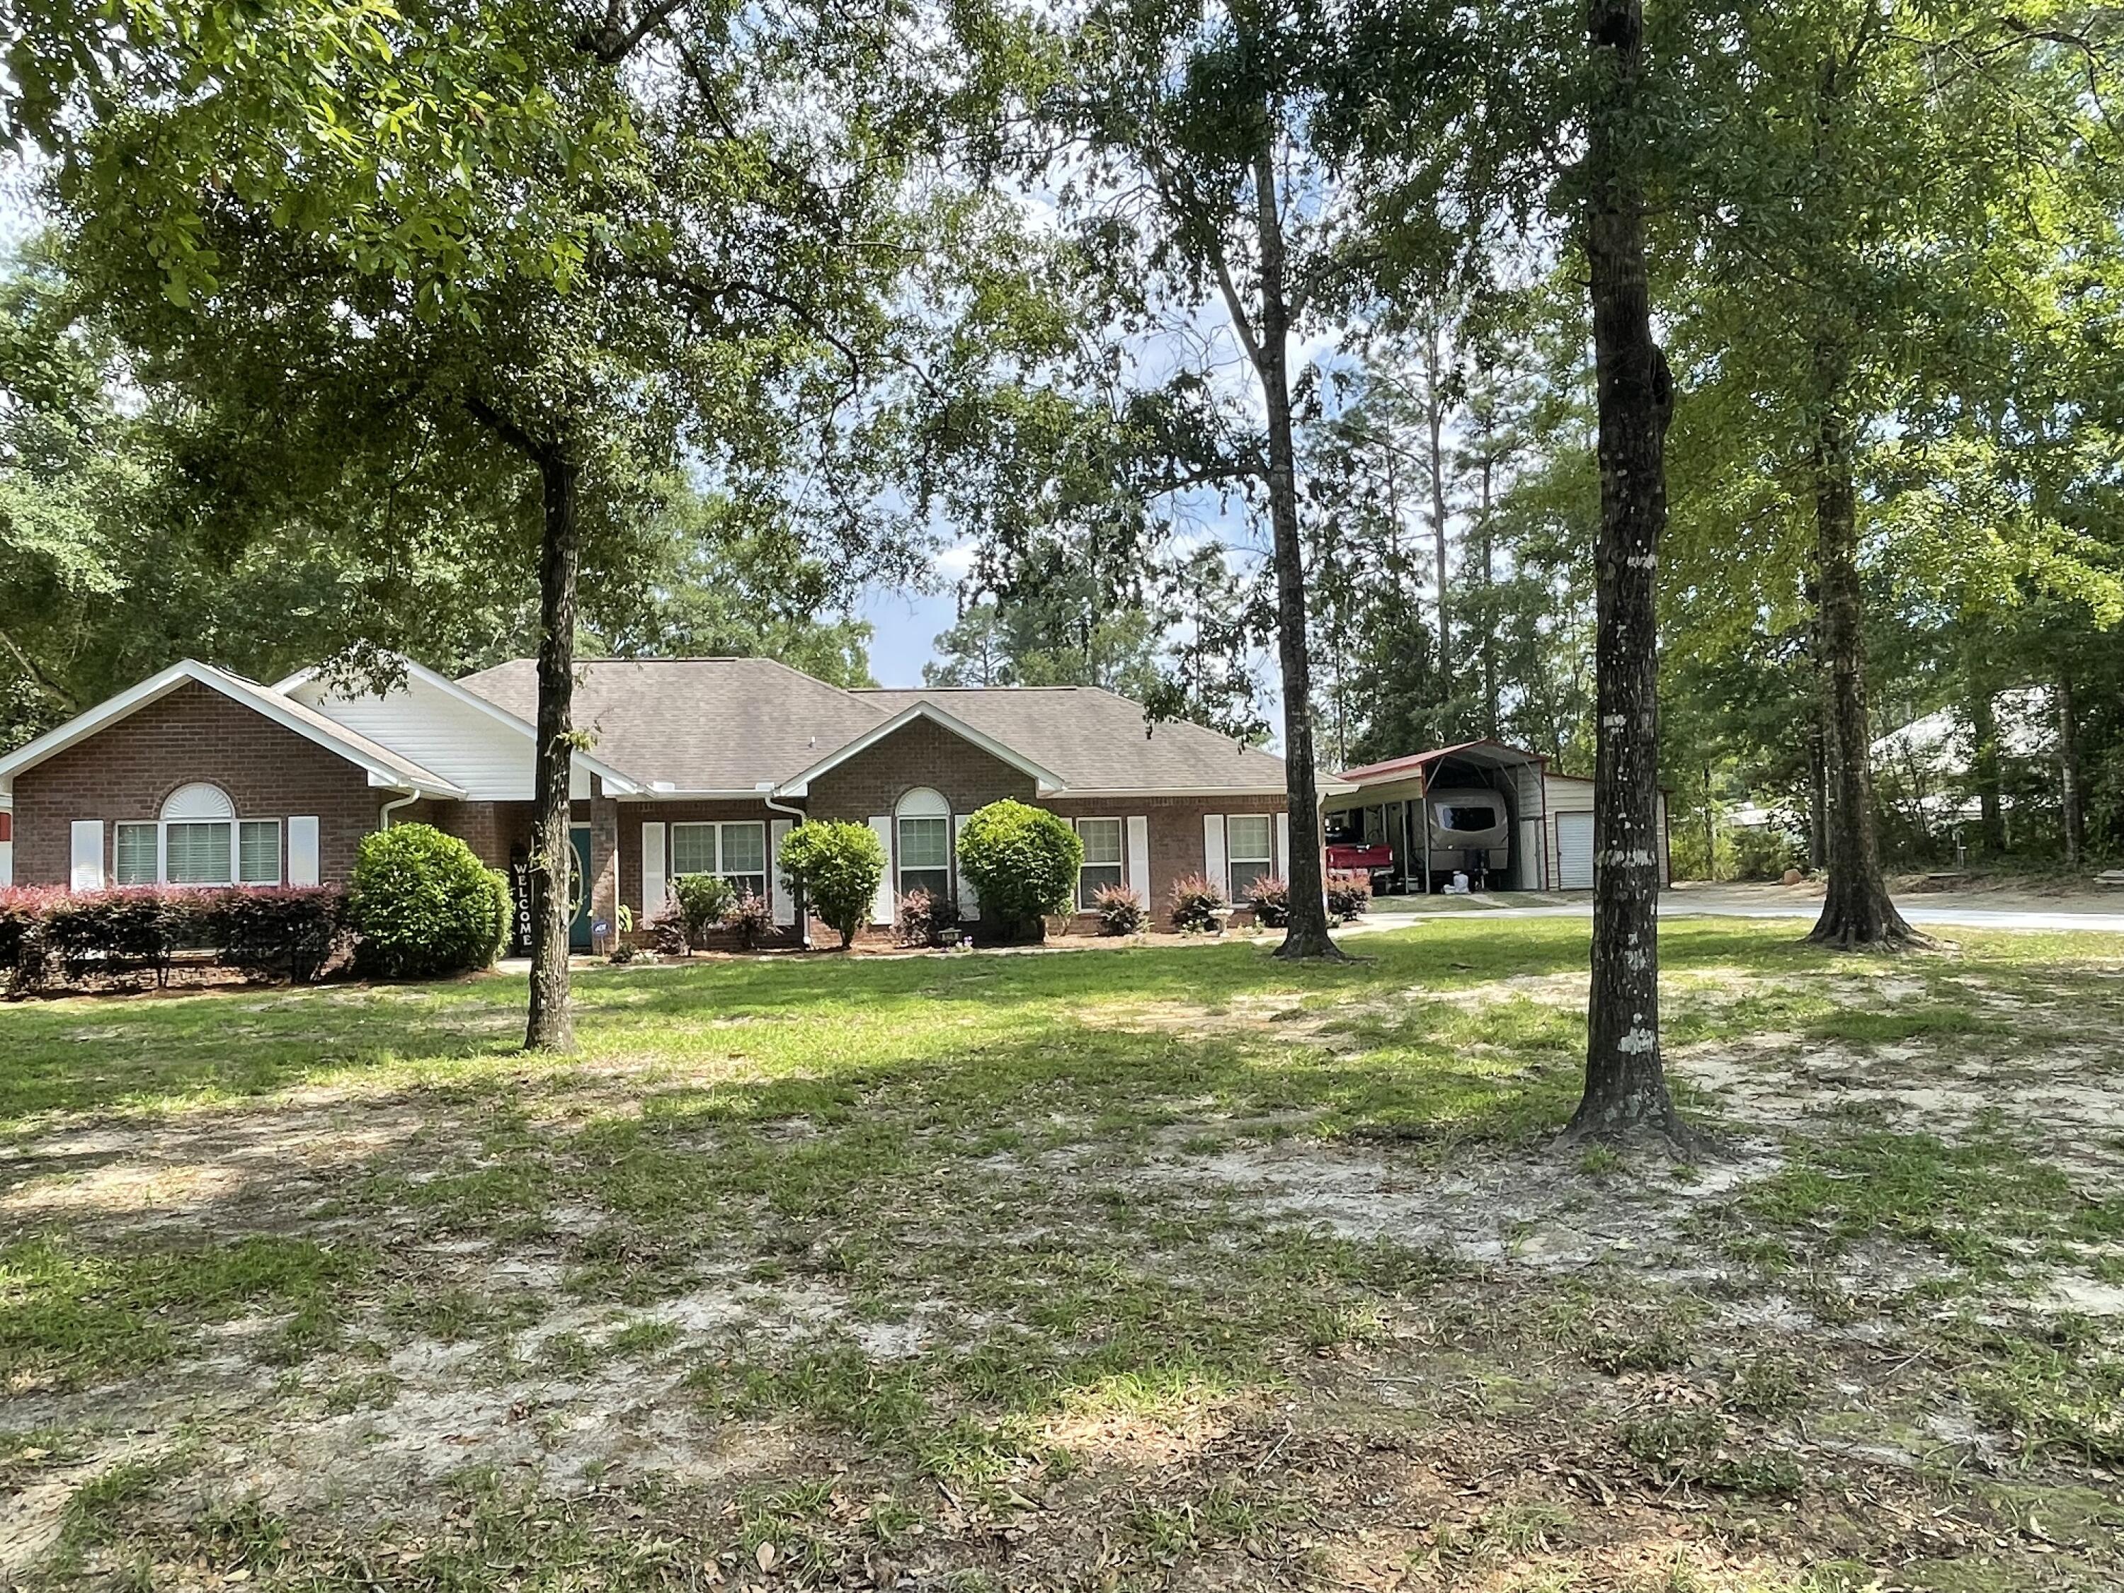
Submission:
<svg viewBox="0 0 2124 1593">
<path fill-rule="evenodd" d="M 1546 765 L 1504 741 L 1463 741 L 1344 769 L 1357 790 L 1330 799 L 1328 843 L 1393 847 L 1391 886 L 1406 894 L 1455 873 L 1489 890 L 1546 890 Z"/>
</svg>

